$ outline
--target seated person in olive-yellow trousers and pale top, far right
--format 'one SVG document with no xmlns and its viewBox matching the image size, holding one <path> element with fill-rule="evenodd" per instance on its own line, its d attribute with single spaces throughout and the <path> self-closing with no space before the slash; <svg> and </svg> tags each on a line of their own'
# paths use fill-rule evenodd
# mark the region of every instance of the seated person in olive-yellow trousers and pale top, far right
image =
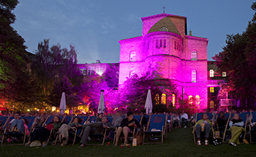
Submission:
<svg viewBox="0 0 256 157">
<path fill-rule="evenodd" d="M 228 141 L 228 143 L 233 146 L 239 145 L 239 136 L 241 135 L 242 131 L 244 131 L 244 122 L 243 119 L 240 118 L 238 113 L 235 113 L 235 115 L 233 115 L 232 120 L 230 120 L 229 126 L 231 131 L 231 139 Z"/>
</svg>

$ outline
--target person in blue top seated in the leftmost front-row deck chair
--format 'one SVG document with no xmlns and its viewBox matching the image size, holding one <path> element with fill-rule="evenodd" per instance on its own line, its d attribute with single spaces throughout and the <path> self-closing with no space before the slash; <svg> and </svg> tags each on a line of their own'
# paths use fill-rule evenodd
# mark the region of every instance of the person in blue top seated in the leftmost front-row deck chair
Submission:
<svg viewBox="0 0 256 157">
<path fill-rule="evenodd" d="M 24 121 L 20 120 L 20 113 L 16 112 L 14 119 L 10 121 L 10 132 L 24 132 Z"/>
</svg>

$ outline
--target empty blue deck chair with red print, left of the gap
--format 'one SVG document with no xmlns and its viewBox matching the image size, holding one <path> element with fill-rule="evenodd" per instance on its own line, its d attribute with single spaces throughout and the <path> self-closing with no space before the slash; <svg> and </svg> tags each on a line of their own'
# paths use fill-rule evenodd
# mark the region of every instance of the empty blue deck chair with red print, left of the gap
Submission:
<svg viewBox="0 0 256 157">
<path fill-rule="evenodd" d="M 167 116 L 166 115 L 151 115 L 149 123 L 149 130 L 145 131 L 146 128 L 144 127 L 144 134 L 143 134 L 143 145 L 146 144 L 162 144 L 164 142 L 165 137 L 165 127 L 167 123 Z M 161 135 L 161 142 L 145 142 L 145 137 L 149 137 L 150 135 Z"/>
</svg>

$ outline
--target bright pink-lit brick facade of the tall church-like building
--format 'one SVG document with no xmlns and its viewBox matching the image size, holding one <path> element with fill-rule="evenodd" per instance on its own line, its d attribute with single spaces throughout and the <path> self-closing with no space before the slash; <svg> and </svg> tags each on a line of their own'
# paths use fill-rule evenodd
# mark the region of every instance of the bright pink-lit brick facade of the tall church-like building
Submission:
<svg viewBox="0 0 256 157">
<path fill-rule="evenodd" d="M 159 77 L 178 85 L 184 93 L 180 96 L 199 96 L 198 106 L 206 108 L 208 39 L 187 35 L 186 17 L 163 13 L 141 20 L 142 36 L 119 41 L 119 85 L 131 74 L 145 74 L 151 66 Z"/>
</svg>

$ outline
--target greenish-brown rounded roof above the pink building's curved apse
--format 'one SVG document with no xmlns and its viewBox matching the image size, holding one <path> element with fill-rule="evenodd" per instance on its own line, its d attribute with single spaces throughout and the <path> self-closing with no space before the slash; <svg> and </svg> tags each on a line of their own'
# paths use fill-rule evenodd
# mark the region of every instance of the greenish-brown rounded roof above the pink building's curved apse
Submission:
<svg viewBox="0 0 256 157">
<path fill-rule="evenodd" d="M 167 30 L 164 27 L 167 28 Z M 163 31 L 166 30 L 181 35 L 173 21 L 170 20 L 170 17 L 162 18 L 157 23 L 155 23 L 154 26 L 149 29 L 148 34 L 154 31 L 160 31 L 161 28 L 163 28 Z"/>
</svg>

